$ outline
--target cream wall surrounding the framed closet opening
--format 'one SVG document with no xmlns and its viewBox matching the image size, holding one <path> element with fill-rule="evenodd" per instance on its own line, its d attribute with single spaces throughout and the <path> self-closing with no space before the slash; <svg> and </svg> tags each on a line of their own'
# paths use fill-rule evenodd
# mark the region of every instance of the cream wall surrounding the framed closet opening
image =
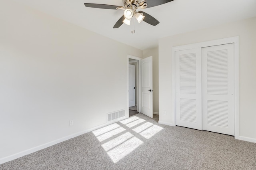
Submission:
<svg viewBox="0 0 256 170">
<path fill-rule="evenodd" d="M 256 18 L 159 40 L 159 121 L 172 124 L 172 47 L 239 36 L 239 133 L 256 142 Z M 164 110 L 167 114 L 164 115 Z"/>
</svg>

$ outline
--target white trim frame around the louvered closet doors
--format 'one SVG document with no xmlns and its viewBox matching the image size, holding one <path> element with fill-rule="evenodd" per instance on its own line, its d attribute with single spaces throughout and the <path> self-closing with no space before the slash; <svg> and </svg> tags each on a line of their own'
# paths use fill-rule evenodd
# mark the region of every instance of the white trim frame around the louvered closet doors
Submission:
<svg viewBox="0 0 256 170">
<path fill-rule="evenodd" d="M 175 51 L 234 43 L 234 130 L 239 136 L 239 36 L 172 47 L 172 125 L 176 126 Z"/>
</svg>

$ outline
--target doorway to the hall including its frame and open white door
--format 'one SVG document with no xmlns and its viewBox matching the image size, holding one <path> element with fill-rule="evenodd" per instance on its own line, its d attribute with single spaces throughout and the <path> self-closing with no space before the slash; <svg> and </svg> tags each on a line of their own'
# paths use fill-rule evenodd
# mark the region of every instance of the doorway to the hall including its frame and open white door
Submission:
<svg viewBox="0 0 256 170">
<path fill-rule="evenodd" d="M 128 55 L 128 109 L 131 116 L 142 113 L 148 117 L 153 117 L 153 81 L 152 81 L 152 56 L 147 58 Z M 130 79 L 130 74 L 135 67 L 135 88 L 134 79 Z M 133 77 L 133 76 L 132 76 Z M 134 91 L 135 89 L 135 91 Z M 135 105 L 134 105 L 135 93 Z M 130 109 L 132 111 L 130 111 Z"/>
</svg>

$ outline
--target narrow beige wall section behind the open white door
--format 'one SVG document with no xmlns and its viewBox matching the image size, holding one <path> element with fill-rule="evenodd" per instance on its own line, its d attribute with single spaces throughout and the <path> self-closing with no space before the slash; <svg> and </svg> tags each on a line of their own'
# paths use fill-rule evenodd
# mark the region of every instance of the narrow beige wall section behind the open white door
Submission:
<svg viewBox="0 0 256 170">
<path fill-rule="evenodd" d="M 152 56 L 153 57 L 153 114 L 159 113 L 158 108 L 158 93 L 159 93 L 159 83 L 158 83 L 158 47 L 145 49 L 143 51 L 143 58 Z"/>
</svg>

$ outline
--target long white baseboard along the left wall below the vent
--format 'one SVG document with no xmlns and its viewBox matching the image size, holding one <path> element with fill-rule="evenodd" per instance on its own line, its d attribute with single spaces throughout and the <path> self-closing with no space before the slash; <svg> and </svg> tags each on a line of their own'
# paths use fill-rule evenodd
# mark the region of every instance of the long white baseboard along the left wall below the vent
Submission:
<svg viewBox="0 0 256 170">
<path fill-rule="evenodd" d="M 103 124 L 103 125 L 99 125 L 99 126 L 97 126 L 97 127 L 93 127 L 93 128 L 90 128 L 90 129 L 86 129 L 86 130 L 83 130 L 83 131 L 81 131 L 81 132 L 77 132 L 77 133 L 74 133 L 74 134 L 65 136 L 65 137 L 63 137 L 63 138 L 59 138 L 59 139 L 57 139 L 57 140 L 53 140 L 53 141 L 51 141 L 51 142 L 47 142 L 47 143 L 45 143 L 45 144 L 41 144 L 41 145 L 36 146 L 36 147 L 34 147 L 34 148 L 30 148 L 30 149 L 28 149 L 28 150 L 24 150 L 24 151 L 18 152 L 18 153 L 16 153 L 16 154 L 12 154 L 12 155 L 6 156 L 6 157 L 4 157 L 4 158 L 0 158 L 0 164 L 3 164 L 3 163 L 5 163 L 5 162 L 9 162 L 9 161 L 11 161 L 11 160 L 20 158 L 20 157 L 22 157 L 22 156 L 25 156 L 25 155 L 27 155 L 27 154 L 31 154 L 31 153 L 33 153 L 33 152 L 37 152 L 38 150 L 42 150 L 42 149 L 44 149 L 44 148 L 48 148 L 49 146 L 52 146 L 52 145 L 54 145 L 54 144 L 58 144 L 58 143 L 60 143 L 60 142 L 64 142 L 65 140 L 68 140 L 68 139 L 74 138 L 74 137 L 76 137 L 76 136 L 79 136 L 79 135 L 82 135 L 82 134 L 91 132 L 91 131 L 96 130 L 96 129 L 98 129 L 98 128 L 105 127 L 105 126 L 107 126 L 107 125 L 110 125 L 110 124 L 112 124 L 112 123 L 116 123 L 116 122 L 122 121 L 122 120 L 127 119 L 127 118 L 129 118 L 129 116 L 122 117 L 122 118 L 120 118 L 120 119 L 116 119 L 115 121 L 111 121 L 111 122 L 105 123 L 105 124 Z"/>
</svg>

